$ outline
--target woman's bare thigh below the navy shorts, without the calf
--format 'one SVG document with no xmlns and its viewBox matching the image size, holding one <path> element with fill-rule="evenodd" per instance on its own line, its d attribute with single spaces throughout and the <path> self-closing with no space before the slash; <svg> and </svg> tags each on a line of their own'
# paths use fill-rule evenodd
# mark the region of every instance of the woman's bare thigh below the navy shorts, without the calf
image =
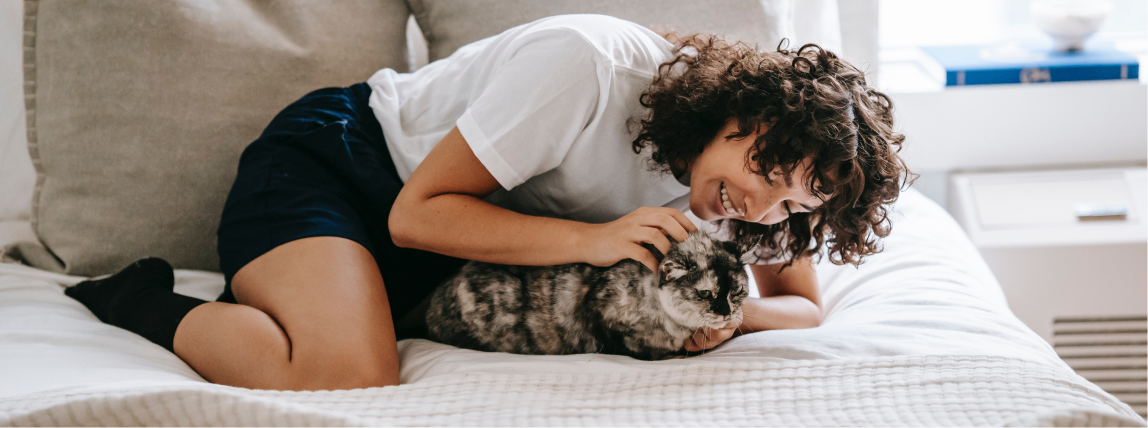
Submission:
<svg viewBox="0 0 1148 428">
<path fill-rule="evenodd" d="M 378 264 L 360 244 L 334 236 L 295 240 L 232 279 L 239 303 L 258 309 L 288 344 L 270 376 L 276 389 L 398 384 L 398 347 Z"/>
</svg>

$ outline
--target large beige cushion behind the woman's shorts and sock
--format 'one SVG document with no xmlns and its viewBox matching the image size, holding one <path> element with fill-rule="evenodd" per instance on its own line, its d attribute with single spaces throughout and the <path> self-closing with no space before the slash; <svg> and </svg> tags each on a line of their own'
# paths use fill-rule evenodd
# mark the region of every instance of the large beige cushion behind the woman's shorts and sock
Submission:
<svg viewBox="0 0 1148 428">
<path fill-rule="evenodd" d="M 26 3 L 33 228 L 70 274 L 218 270 L 239 155 L 274 114 L 406 69 L 403 0 Z"/>
</svg>

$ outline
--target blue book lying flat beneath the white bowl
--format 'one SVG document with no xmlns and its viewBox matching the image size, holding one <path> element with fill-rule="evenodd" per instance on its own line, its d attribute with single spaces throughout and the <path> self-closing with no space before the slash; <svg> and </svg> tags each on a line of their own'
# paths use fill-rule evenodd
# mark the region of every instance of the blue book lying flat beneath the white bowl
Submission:
<svg viewBox="0 0 1148 428">
<path fill-rule="evenodd" d="M 945 69 L 945 86 L 1140 78 L 1135 56 L 1104 45 L 1061 53 L 1017 45 L 938 46 L 922 50 Z"/>
</svg>

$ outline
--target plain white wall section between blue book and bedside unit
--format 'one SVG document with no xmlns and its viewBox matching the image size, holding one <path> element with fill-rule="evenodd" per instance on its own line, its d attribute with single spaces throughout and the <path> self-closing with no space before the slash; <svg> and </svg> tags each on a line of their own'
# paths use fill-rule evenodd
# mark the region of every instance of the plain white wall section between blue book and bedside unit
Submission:
<svg viewBox="0 0 1148 428">
<path fill-rule="evenodd" d="M 1148 162 L 1148 85 L 984 85 L 892 94 L 921 171 Z"/>
</svg>

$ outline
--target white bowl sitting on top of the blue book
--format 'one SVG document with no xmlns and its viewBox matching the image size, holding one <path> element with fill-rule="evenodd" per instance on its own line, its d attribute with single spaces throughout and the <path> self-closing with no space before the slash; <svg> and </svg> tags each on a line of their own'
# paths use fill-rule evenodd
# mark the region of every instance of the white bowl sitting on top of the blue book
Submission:
<svg viewBox="0 0 1148 428">
<path fill-rule="evenodd" d="M 1108 0 L 1034 0 L 1029 5 L 1037 26 L 1053 37 L 1061 52 L 1084 49 L 1084 40 L 1100 29 L 1112 2 Z"/>
</svg>

